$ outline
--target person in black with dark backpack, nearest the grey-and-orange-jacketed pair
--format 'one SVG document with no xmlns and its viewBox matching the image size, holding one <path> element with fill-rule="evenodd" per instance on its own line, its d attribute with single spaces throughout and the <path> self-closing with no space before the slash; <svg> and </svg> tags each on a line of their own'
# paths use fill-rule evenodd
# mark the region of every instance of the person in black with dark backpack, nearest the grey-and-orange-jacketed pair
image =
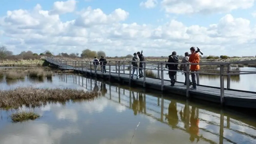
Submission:
<svg viewBox="0 0 256 144">
<path fill-rule="evenodd" d="M 167 63 L 178 63 L 179 58 L 176 52 L 172 52 L 172 55 L 169 55 Z M 167 64 L 168 70 L 178 70 L 178 64 Z M 175 84 L 175 78 L 177 71 L 168 71 L 169 78 L 171 80 L 171 86 Z"/>
</svg>

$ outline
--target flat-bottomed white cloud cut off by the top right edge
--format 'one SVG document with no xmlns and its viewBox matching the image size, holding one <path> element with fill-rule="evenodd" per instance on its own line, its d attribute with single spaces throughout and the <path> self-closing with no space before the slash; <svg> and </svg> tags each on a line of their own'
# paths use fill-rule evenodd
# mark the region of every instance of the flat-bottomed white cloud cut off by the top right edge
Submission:
<svg viewBox="0 0 256 144">
<path fill-rule="evenodd" d="M 167 13 L 222 13 L 235 9 L 247 9 L 255 0 L 162 0 L 161 4 Z"/>
</svg>

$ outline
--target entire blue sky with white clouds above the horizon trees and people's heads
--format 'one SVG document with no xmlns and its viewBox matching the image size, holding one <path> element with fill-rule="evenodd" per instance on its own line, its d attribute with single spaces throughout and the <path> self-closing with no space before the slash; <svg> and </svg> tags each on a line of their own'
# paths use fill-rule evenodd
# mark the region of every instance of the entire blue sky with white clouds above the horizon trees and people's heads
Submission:
<svg viewBox="0 0 256 144">
<path fill-rule="evenodd" d="M 1 1 L 0 46 L 19 54 L 256 55 L 256 0 Z"/>
</svg>

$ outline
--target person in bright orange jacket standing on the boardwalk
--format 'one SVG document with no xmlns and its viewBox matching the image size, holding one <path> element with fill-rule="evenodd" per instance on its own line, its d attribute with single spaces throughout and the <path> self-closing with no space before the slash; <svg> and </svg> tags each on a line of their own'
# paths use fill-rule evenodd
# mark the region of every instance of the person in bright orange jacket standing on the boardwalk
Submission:
<svg viewBox="0 0 256 144">
<path fill-rule="evenodd" d="M 195 72 L 195 71 L 198 71 L 200 69 L 200 66 L 199 66 L 200 57 L 199 57 L 199 54 L 196 53 L 195 47 L 191 47 L 190 52 L 191 52 L 191 54 L 189 56 L 188 61 L 190 63 L 197 63 L 198 64 L 198 65 L 191 65 L 190 66 L 190 71 Z M 192 80 L 191 89 L 196 89 L 196 74 L 195 73 L 191 73 L 191 80 Z"/>
</svg>

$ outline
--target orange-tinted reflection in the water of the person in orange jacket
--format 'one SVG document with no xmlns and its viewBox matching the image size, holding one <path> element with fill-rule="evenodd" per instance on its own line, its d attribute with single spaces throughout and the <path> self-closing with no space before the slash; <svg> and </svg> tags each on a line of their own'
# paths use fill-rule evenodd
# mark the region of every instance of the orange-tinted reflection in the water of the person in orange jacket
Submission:
<svg viewBox="0 0 256 144">
<path fill-rule="evenodd" d="M 190 127 L 189 127 L 189 133 L 190 133 L 190 138 L 189 140 L 191 142 L 195 141 L 195 138 L 197 139 L 197 142 L 199 141 L 199 119 L 196 117 L 196 108 L 192 106 L 191 109 L 191 117 L 190 117 Z"/>
</svg>

